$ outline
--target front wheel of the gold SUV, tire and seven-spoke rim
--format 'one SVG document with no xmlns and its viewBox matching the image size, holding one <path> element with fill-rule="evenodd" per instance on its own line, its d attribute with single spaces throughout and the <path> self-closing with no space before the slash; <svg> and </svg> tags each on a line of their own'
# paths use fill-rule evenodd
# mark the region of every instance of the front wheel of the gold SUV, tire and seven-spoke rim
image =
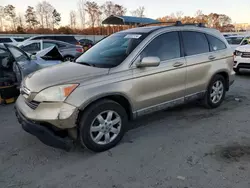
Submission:
<svg viewBox="0 0 250 188">
<path fill-rule="evenodd" d="M 94 152 L 106 151 L 117 145 L 123 138 L 127 113 L 112 100 L 101 100 L 91 105 L 79 123 L 81 145 Z"/>
</svg>

